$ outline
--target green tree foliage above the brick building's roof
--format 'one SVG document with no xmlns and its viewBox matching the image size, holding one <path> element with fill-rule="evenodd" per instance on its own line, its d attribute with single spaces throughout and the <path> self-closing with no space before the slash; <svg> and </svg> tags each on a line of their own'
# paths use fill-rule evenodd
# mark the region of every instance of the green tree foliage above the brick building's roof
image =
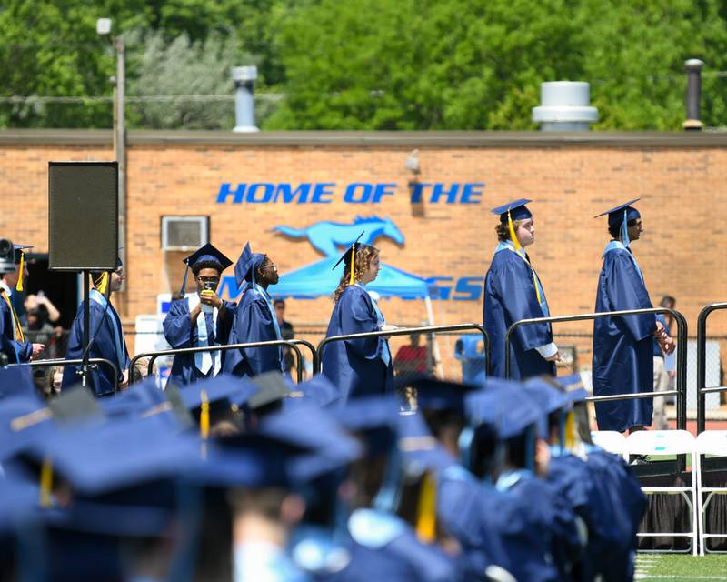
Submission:
<svg viewBox="0 0 727 582">
<path fill-rule="evenodd" d="M 130 95 L 232 95 L 257 64 L 283 100 L 264 129 L 530 129 L 540 84 L 591 83 L 599 129 L 680 129 L 687 58 L 702 118 L 727 125 L 721 0 L 5 0 L 0 97 L 111 95 L 127 35 Z M 111 105 L 0 103 L 0 127 L 109 127 Z M 231 102 L 132 105 L 131 126 L 230 128 Z"/>
</svg>

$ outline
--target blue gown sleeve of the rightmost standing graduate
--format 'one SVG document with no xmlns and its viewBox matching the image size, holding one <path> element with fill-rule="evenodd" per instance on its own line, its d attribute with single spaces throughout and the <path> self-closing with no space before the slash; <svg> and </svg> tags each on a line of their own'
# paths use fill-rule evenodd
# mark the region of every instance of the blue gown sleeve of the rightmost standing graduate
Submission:
<svg viewBox="0 0 727 582">
<path fill-rule="evenodd" d="M 650 309 L 652 301 L 632 259 L 625 252 L 612 252 L 609 255 L 612 256 L 603 267 L 605 292 L 611 310 Z M 652 336 L 656 331 L 656 316 L 653 314 L 621 317 L 620 321 L 637 342 Z"/>
</svg>

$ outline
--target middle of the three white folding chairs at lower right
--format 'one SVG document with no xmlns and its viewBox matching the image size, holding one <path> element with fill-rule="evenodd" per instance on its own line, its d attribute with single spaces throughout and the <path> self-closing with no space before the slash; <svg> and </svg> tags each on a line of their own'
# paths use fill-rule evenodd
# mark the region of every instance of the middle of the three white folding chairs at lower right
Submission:
<svg viewBox="0 0 727 582">
<path fill-rule="evenodd" d="M 692 531 L 689 532 L 639 532 L 639 537 L 689 537 L 692 540 L 692 556 L 697 555 L 697 475 L 695 471 L 699 455 L 696 454 L 696 440 L 686 430 L 639 430 L 626 437 L 629 455 L 691 455 L 692 485 L 689 487 L 642 487 L 646 495 L 679 495 L 692 514 Z M 672 551 L 672 550 L 650 550 Z"/>
</svg>

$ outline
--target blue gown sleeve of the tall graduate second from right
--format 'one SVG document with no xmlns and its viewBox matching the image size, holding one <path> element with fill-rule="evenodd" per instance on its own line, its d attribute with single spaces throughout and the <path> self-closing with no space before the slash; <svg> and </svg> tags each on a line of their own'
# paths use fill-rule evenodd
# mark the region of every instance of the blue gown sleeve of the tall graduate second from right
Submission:
<svg viewBox="0 0 727 582">
<path fill-rule="evenodd" d="M 517 258 L 517 257 L 516 257 Z M 506 321 L 519 321 L 543 317 L 543 308 L 538 304 L 533 284 L 533 272 L 520 258 L 515 261 L 503 261 L 493 280 L 493 286 L 499 296 L 507 297 L 503 301 Z M 553 334 L 547 324 L 531 324 L 520 326 L 515 332 L 523 350 L 535 349 L 553 342 Z"/>
</svg>

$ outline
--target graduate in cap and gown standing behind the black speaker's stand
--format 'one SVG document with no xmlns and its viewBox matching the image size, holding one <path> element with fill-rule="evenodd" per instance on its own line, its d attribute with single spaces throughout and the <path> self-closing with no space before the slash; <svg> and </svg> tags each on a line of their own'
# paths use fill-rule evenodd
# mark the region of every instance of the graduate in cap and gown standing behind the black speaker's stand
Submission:
<svg viewBox="0 0 727 582">
<path fill-rule="evenodd" d="M 119 371 L 119 386 L 128 381 L 129 352 L 124 340 L 124 329 L 114 306 L 111 294 L 121 289 L 124 283 L 124 266 L 116 259 L 116 270 L 108 273 L 95 273 L 94 288 L 89 294 L 89 346 L 88 357 L 103 357 L 115 363 Z M 65 359 L 81 359 L 84 356 L 84 304 L 78 306 L 71 333 L 68 336 L 68 350 Z M 61 390 L 81 383 L 78 370 L 81 365 L 65 366 Z M 109 366 L 99 364 L 97 370 L 88 375 L 88 383 L 95 396 L 114 394 L 114 377 Z"/>
</svg>

